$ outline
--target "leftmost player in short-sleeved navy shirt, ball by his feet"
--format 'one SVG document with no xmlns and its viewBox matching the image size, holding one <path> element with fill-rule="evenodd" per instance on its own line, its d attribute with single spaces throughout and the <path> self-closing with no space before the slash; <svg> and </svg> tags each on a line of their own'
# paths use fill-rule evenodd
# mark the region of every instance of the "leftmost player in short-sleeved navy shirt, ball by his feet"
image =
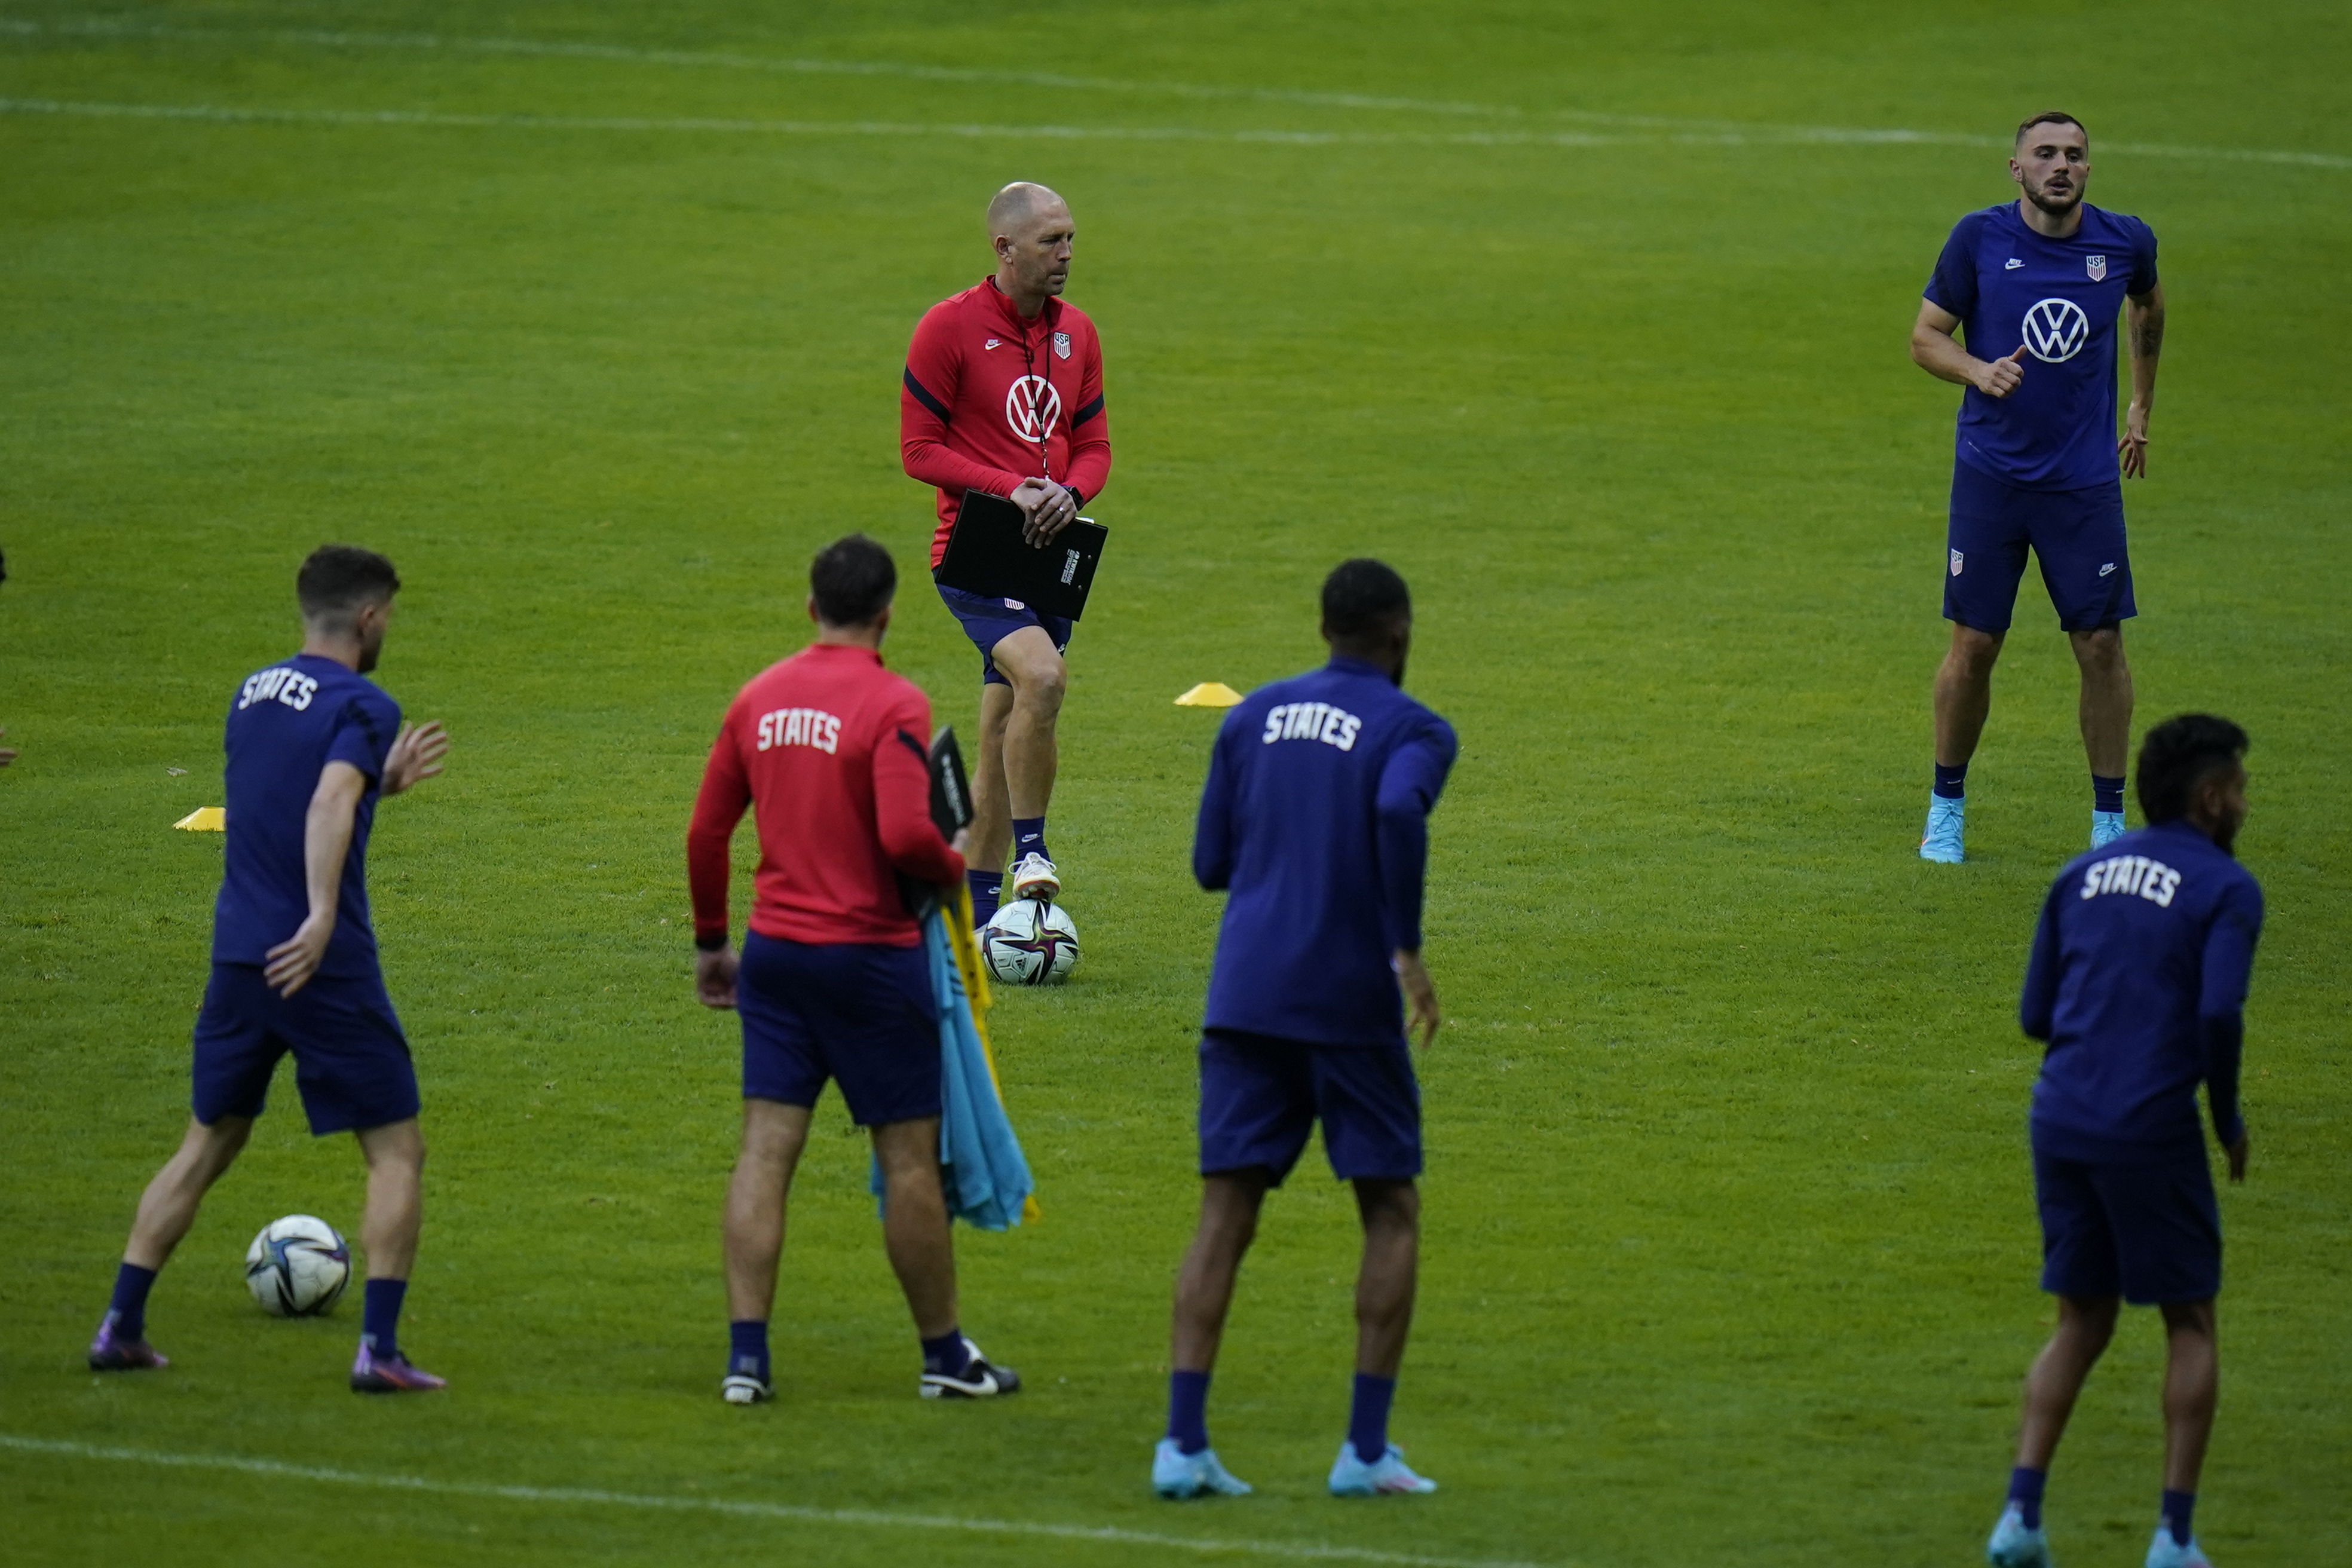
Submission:
<svg viewBox="0 0 2352 1568">
<path fill-rule="evenodd" d="M 228 849 L 212 914 L 212 980 L 195 1018 L 195 1114 L 139 1199 L 96 1371 L 165 1366 L 146 1300 L 198 1204 L 238 1159 L 278 1058 L 294 1053 L 310 1133 L 355 1133 L 367 1157 L 367 1288 L 350 1387 L 442 1387 L 400 1352 L 400 1305 L 423 1225 L 416 1067 L 383 992 L 367 912 L 376 799 L 442 771 L 440 724 L 402 724 L 362 679 L 383 651 L 400 576 L 374 550 L 320 545 L 301 564 L 303 644 L 247 675 L 228 705 Z"/>
</svg>

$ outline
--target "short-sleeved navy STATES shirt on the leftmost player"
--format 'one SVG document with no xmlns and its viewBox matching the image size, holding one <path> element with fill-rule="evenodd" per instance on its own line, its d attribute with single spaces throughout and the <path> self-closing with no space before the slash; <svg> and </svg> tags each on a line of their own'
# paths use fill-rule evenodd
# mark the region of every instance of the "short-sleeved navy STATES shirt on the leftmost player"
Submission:
<svg viewBox="0 0 2352 1568">
<path fill-rule="evenodd" d="M 367 776 L 343 856 L 343 891 L 322 976 L 376 973 L 367 919 L 367 830 L 376 820 L 383 759 L 400 733 L 400 703 L 332 658 L 296 654 L 245 677 L 228 703 L 228 853 L 212 912 L 214 964 L 266 964 L 310 914 L 303 823 L 318 776 L 348 762 Z"/>
</svg>

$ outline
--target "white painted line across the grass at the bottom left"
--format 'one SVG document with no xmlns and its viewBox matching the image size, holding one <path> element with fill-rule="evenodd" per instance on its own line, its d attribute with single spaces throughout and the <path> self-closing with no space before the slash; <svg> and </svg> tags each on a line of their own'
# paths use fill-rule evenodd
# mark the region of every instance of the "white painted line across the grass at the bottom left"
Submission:
<svg viewBox="0 0 2352 1568">
<path fill-rule="evenodd" d="M 746 1502 L 729 1497 L 663 1497 L 654 1493 L 609 1493 L 593 1486 L 494 1486 L 489 1481 L 435 1481 L 433 1476 L 369 1474 L 327 1469 L 322 1465 L 285 1465 L 214 1453 L 158 1453 L 153 1448 L 106 1448 L 42 1436 L 0 1432 L 0 1450 L 42 1453 L 61 1460 L 101 1460 L 113 1465 L 155 1465 L 165 1469 L 214 1469 L 275 1481 L 318 1481 L 325 1486 L 365 1486 L 433 1497 L 485 1497 L 492 1502 L 539 1502 L 555 1507 L 644 1509 L 661 1514 L 727 1514 L 734 1519 L 774 1519 L 793 1523 L 849 1526 L 866 1530 L 943 1530 L 955 1535 L 1000 1535 L 1070 1540 L 1103 1547 L 1164 1547 L 1202 1556 L 1270 1556 L 1294 1563 L 1378 1563 L 1381 1568 L 1536 1568 L 1496 1559 L 1414 1556 L 1411 1552 L 1376 1552 L 1371 1547 L 1327 1547 L 1279 1540 L 1214 1540 L 1204 1535 L 1160 1535 L 1117 1526 L 1044 1523 L 1023 1519 L 955 1519 L 948 1514 L 891 1514 L 882 1509 L 821 1509 L 793 1502 Z"/>
</svg>

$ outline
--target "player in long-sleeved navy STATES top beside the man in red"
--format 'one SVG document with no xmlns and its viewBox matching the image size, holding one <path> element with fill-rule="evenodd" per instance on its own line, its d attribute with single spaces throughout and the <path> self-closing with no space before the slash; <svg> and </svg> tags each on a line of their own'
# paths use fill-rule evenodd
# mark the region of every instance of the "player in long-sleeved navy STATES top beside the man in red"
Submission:
<svg viewBox="0 0 2352 1568">
<path fill-rule="evenodd" d="M 1404 578 L 1374 559 L 1324 581 L 1331 663 L 1225 715 L 1200 797 L 1192 875 L 1225 889 L 1200 1039 L 1200 1229 L 1176 1276 L 1162 1497 L 1240 1495 L 1209 1448 L 1209 1371 L 1265 1194 L 1322 1121 L 1355 1182 L 1364 1262 L 1338 1497 L 1430 1493 L 1388 1441 L 1421 1258 L 1421 1086 L 1406 1051 L 1437 1037 L 1421 961 L 1428 816 L 1454 729 L 1399 691 L 1414 637 Z M 1402 1001 L 1399 1001 L 1402 987 Z"/>
</svg>

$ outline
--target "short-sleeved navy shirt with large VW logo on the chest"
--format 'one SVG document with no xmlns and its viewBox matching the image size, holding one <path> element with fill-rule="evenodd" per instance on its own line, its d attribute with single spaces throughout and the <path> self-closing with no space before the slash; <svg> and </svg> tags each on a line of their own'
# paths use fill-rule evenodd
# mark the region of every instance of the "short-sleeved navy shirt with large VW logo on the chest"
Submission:
<svg viewBox="0 0 2352 1568">
<path fill-rule="evenodd" d="M 2114 317 L 2157 287 L 2157 235 L 2082 205 L 2067 240 L 2025 226 L 2016 202 L 1971 212 L 1943 244 L 1926 301 L 1959 317 L 1978 360 L 2013 355 L 2009 397 L 1973 386 L 1959 400 L 1959 461 L 2018 489 L 2089 489 L 2114 461 Z"/>
</svg>

